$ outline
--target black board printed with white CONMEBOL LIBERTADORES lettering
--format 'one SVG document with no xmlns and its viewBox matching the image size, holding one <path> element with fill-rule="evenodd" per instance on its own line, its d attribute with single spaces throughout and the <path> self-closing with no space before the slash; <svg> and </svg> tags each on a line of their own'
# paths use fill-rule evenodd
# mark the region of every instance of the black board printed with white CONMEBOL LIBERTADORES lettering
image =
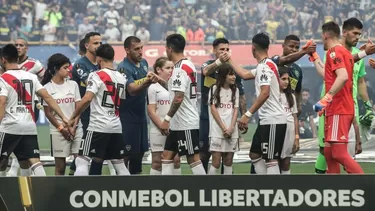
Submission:
<svg viewBox="0 0 375 211">
<path fill-rule="evenodd" d="M 8 177 L 0 195 L 2 211 L 369 211 L 375 175 Z"/>
</svg>

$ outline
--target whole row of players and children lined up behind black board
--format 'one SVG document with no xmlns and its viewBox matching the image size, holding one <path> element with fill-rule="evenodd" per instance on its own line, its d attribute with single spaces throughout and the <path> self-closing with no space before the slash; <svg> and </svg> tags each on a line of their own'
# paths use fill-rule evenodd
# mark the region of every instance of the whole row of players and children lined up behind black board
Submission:
<svg viewBox="0 0 375 211">
<path fill-rule="evenodd" d="M 237 150 L 240 135 L 238 129 L 246 132 L 249 118 L 255 112 L 258 112 L 260 118 L 250 150 L 255 171 L 258 174 L 290 173 L 290 158 L 299 148 L 296 118 L 301 107 L 302 82 L 302 70 L 293 62 L 306 54 L 325 79 L 328 91 L 315 105 L 315 110 L 325 110 L 327 124 L 334 126 L 328 126 L 332 132 L 326 131 L 321 138 L 325 137 L 326 147 L 322 148 L 324 152 L 327 151 L 324 155 L 322 152 L 323 158 L 330 156 L 327 158 L 328 164 L 331 164 L 331 168 L 328 166 L 331 169 L 329 172 L 337 173 L 336 166 L 341 163 L 348 166 L 345 167 L 349 173 L 361 173 L 360 167 L 353 164 L 354 161 L 348 161 L 347 156 L 336 156 L 338 152 L 345 154 L 336 146 L 346 147 L 346 144 L 331 144 L 332 150 L 331 145 L 327 144 L 350 141 L 348 133 L 356 106 L 353 101 L 356 91 L 353 90 L 350 97 L 347 96 L 350 90 L 356 88 L 353 77 L 356 67 L 353 67 L 353 57 L 350 53 L 348 56 L 348 50 L 339 45 L 340 29 L 337 31 L 337 28 L 333 22 L 322 27 L 324 46 L 329 49 L 325 68 L 315 53 L 316 45 L 309 42 L 299 50 L 300 41 L 294 35 L 286 37 L 283 55 L 271 59 L 267 53 L 268 36 L 262 33 L 255 35 L 252 53 L 259 64 L 252 71 L 242 69 L 231 60 L 226 39 L 215 40 L 213 52 L 217 59 L 202 65 L 200 117 L 196 108 L 196 70 L 189 60 L 184 59 L 185 40 L 181 35 L 174 34 L 167 38 L 167 58 L 159 58 L 154 64 L 154 72 L 147 72 L 148 64 L 142 59 L 143 46 L 138 38 L 129 37 L 125 40 L 127 57 L 115 71 L 113 48 L 107 44 L 101 45 L 100 34 L 89 33 L 82 41 L 81 51 L 85 55 L 74 63 L 71 72 L 73 80 L 65 80 L 70 75 L 69 59 L 62 54 L 55 54 L 48 60 L 47 71 L 41 77 L 45 89 L 36 80 L 37 77 L 19 69 L 17 62 L 20 63 L 20 47 L 27 46 L 27 43 L 18 40 L 18 52 L 13 45 L 7 45 L 1 50 L 1 62 L 6 70 L 1 76 L 0 90 L 5 103 L 0 126 L 4 133 L 1 174 L 5 175 L 7 158 L 13 152 L 20 161 L 21 175 L 30 174 L 29 169 L 35 175 L 45 175 L 39 161 L 36 128 L 32 118 L 34 93 L 43 99 L 45 113 L 51 123 L 56 174 L 64 174 L 65 158 L 70 154 L 78 155 L 71 166 L 73 170 L 76 168 L 75 175 L 101 174 L 104 160 L 110 161 L 118 175 L 142 172 L 143 153 L 148 150 L 146 103 L 152 122 L 152 175 L 180 174 L 178 155 L 187 156 L 194 174 L 216 174 L 221 160 L 224 164 L 223 173 L 232 174 L 233 153 Z M 358 42 L 361 30 L 360 21 L 347 20 L 341 42 L 348 44 L 350 40 L 348 45 L 352 49 Z M 354 61 L 361 61 L 374 51 L 374 44 L 367 43 L 364 50 L 355 54 Z M 344 62 L 346 60 L 349 62 Z M 347 72 L 347 78 L 342 77 L 345 80 L 339 76 L 339 73 L 344 72 L 341 69 Z M 328 70 L 334 74 L 327 74 Z M 359 78 L 362 79 L 363 74 Z M 257 100 L 248 111 L 242 79 L 255 79 Z M 341 87 L 335 82 L 336 79 L 342 79 Z M 349 106 L 337 108 L 337 102 L 341 99 L 348 101 L 346 105 Z M 368 97 L 363 100 L 371 106 Z M 330 112 L 332 110 L 335 112 Z M 368 111 L 361 118 L 361 124 L 367 127 L 373 119 L 372 108 L 371 112 Z M 242 114 L 239 121 L 238 112 Z M 70 120 L 66 117 L 70 117 Z M 354 128 L 356 123 L 354 121 Z M 29 128 L 29 131 L 20 128 Z M 24 134 L 15 135 L 22 134 L 12 132 L 16 130 Z M 357 138 L 355 141 L 358 153 L 360 140 Z M 208 169 L 211 154 L 212 165 Z"/>
</svg>

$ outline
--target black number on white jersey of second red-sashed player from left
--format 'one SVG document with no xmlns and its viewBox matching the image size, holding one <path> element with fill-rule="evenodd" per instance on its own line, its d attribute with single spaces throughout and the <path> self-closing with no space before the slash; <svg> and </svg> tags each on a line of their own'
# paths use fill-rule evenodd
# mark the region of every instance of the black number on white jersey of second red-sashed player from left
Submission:
<svg viewBox="0 0 375 211">
<path fill-rule="evenodd" d="M 123 93 L 125 88 L 123 84 L 113 83 L 111 81 L 106 81 L 105 85 L 109 91 L 104 91 L 103 99 L 102 99 L 102 106 L 107 108 L 118 109 L 120 107 L 120 93 Z M 108 96 L 110 96 L 113 102 L 107 102 Z"/>
</svg>

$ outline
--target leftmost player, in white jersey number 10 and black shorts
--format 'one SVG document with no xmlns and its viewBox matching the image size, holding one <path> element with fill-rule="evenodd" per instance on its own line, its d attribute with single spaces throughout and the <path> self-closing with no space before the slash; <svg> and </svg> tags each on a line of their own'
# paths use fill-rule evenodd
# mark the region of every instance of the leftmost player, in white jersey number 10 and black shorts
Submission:
<svg viewBox="0 0 375 211">
<path fill-rule="evenodd" d="M 28 161 L 34 175 L 45 176 L 39 159 L 34 117 L 35 93 L 46 101 L 64 123 L 68 123 L 68 119 L 37 77 L 19 69 L 16 46 L 5 45 L 0 51 L 0 59 L 5 70 L 0 77 L 0 176 L 5 176 L 7 163 L 4 161 L 12 152 L 20 162 Z M 28 170 L 21 170 L 21 175 L 29 175 Z"/>
</svg>

